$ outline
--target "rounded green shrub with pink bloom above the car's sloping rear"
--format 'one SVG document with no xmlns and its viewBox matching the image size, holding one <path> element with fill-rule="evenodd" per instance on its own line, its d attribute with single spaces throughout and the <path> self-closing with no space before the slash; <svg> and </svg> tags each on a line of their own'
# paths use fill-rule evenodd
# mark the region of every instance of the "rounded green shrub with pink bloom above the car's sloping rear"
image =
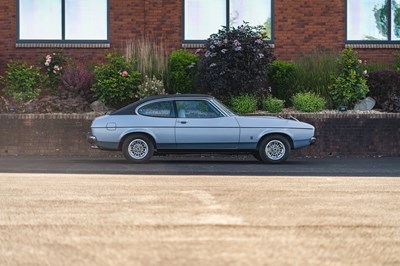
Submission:
<svg viewBox="0 0 400 266">
<path fill-rule="evenodd" d="M 135 99 L 140 73 L 123 56 L 108 54 L 107 63 L 94 68 L 92 90 L 106 105 L 121 107 Z"/>
</svg>

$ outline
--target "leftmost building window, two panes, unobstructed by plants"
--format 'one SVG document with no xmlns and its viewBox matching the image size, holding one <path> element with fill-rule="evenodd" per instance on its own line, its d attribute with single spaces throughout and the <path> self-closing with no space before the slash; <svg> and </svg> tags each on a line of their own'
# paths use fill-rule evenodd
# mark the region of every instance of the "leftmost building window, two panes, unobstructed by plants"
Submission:
<svg viewBox="0 0 400 266">
<path fill-rule="evenodd" d="M 107 42 L 109 0 L 17 0 L 18 42 Z"/>
</svg>

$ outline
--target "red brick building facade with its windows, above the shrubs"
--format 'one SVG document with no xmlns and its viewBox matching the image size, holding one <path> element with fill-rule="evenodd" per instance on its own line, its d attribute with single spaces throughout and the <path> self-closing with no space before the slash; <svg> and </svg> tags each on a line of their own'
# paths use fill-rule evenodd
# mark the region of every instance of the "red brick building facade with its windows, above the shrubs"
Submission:
<svg viewBox="0 0 400 266">
<path fill-rule="evenodd" d="M 390 0 L 0 1 L 0 73 L 11 59 L 37 63 L 61 48 L 85 62 L 141 38 L 169 50 L 197 48 L 206 33 L 240 19 L 268 22 L 283 60 L 346 45 L 370 61 L 394 61 L 400 52 L 400 5 Z"/>
</svg>

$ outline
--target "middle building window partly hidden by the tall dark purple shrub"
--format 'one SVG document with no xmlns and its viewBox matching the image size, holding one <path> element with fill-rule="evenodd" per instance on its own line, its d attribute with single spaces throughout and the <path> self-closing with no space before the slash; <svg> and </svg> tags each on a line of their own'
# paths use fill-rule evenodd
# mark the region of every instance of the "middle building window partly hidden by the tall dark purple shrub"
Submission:
<svg viewBox="0 0 400 266">
<path fill-rule="evenodd" d="M 204 42 L 222 26 L 264 26 L 272 40 L 273 0 L 184 0 L 183 41 Z"/>
</svg>

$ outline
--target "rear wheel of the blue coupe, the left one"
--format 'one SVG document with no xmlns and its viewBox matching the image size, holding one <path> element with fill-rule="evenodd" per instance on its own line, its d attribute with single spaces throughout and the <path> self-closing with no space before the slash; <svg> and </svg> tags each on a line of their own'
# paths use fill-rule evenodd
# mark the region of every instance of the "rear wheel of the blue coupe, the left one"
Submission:
<svg viewBox="0 0 400 266">
<path fill-rule="evenodd" d="M 145 135 L 132 135 L 122 144 L 122 153 L 130 162 L 147 162 L 153 156 L 154 144 L 151 139 Z"/>
</svg>

